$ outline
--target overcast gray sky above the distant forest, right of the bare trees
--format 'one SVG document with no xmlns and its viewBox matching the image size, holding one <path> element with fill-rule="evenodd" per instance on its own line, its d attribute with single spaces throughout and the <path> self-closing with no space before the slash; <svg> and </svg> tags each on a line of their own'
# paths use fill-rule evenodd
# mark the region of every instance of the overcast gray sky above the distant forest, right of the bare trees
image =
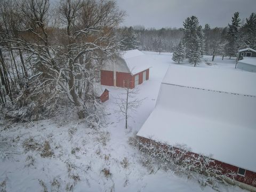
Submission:
<svg viewBox="0 0 256 192">
<path fill-rule="evenodd" d="M 182 27 L 191 15 L 198 17 L 202 26 L 224 27 L 231 22 L 234 12 L 241 19 L 256 12 L 256 0 L 116 0 L 126 11 L 125 26 L 143 25 L 146 28 Z"/>
</svg>

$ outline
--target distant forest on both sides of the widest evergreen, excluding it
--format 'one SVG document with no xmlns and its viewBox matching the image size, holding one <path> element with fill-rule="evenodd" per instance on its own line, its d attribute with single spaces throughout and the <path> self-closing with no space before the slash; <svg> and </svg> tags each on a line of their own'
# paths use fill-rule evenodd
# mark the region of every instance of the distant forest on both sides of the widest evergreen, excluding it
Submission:
<svg viewBox="0 0 256 192">
<path fill-rule="evenodd" d="M 145 51 L 174 52 L 185 37 L 185 28 L 146 29 L 144 26 L 133 26 L 121 27 L 119 30 L 123 34 L 122 39 L 125 39 L 124 50 L 137 47 Z M 202 26 L 202 32 L 203 54 L 235 56 L 238 49 L 256 49 L 256 14 L 252 13 L 241 22 L 239 13 L 236 12 L 232 18 L 230 17 L 227 27 L 211 27 L 206 24 Z M 127 41 L 132 43 L 129 44 Z"/>
</svg>

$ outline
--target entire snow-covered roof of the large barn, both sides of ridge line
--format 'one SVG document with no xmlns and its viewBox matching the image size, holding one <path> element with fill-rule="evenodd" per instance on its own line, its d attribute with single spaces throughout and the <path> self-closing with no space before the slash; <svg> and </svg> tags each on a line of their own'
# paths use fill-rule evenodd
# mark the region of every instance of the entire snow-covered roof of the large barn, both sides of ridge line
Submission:
<svg viewBox="0 0 256 192">
<path fill-rule="evenodd" d="M 137 135 L 256 172 L 255 82 L 243 71 L 171 66 Z"/>
</svg>

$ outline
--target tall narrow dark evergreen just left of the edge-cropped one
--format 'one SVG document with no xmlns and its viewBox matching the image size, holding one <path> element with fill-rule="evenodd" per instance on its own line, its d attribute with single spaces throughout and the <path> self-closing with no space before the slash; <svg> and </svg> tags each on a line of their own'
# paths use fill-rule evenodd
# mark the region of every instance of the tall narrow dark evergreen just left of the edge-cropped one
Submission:
<svg viewBox="0 0 256 192">
<path fill-rule="evenodd" d="M 227 33 L 227 49 L 226 54 L 229 56 L 229 59 L 231 56 L 235 56 L 238 50 L 238 28 L 240 27 L 240 21 L 239 19 L 239 13 L 235 12 L 234 17 L 232 17 L 232 24 L 229 25 L 228 33 Z"/>
</svg>

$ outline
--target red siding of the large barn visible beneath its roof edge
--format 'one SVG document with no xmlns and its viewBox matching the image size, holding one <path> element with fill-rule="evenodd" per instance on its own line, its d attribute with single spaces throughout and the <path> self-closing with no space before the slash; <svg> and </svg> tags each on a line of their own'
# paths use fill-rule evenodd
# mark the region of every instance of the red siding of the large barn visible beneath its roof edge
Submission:
<svg viewBox="0 0 256 192">
<path fill-rule="evenodd" d="M 141 141 L 141 142 L 155 142 L 153 140 L 150 140 L 150 139 L 147 139 L 147 138 L 143 138 L 143 137 L 139 137 L 137 136 L 138 139 Z M 156 143 L 156 142 L 155 142 Z M 159 146 L 158 143 L 156 143 L 156 146 Z M 166 149 L 167 146 L 162 144 L 161 147 L 163 147 L 163 149 Z M 195 153 L 189 153 L 188 155 L 191 155 L 191 154 L 195 154 Z M 195 154 L 197 155 L 197 154 Z M 215 162 L 215 164 L 219 165 L 222 169 L 223 169 L 223 174 L 227 173 L 228 171 L 233 171 L 234 173 L 237 173 L 238 171 L 238 167 L 237 166 L 234 166 L 234 165 L 230 165 L 230 164 L 227 164 L 227 163 L 223 163 L 223 162 L 220 162 L 220 161 L 217 161 L 215 159 L 213 159 Z M 242 168 L 242 167 L 241 167 Z M 232 178 L 231 178 L 232 179 Z M 249 171 L 249 170 L 246 170 L 245 171 L 245 175 L 244 177 L 241 176 L 241 175 L 236 175 L 234 177 L 234 179 L 236 181 L 239 181 L 239 182 L 243 182 L 243 183 L 246 183 L 247 185 L 250 185 L 250 186 L 253 186 L 253 187 L 256 187 L 256 173 L 255 172 L 252 172 L 252 171 Z"/>
</svg>

